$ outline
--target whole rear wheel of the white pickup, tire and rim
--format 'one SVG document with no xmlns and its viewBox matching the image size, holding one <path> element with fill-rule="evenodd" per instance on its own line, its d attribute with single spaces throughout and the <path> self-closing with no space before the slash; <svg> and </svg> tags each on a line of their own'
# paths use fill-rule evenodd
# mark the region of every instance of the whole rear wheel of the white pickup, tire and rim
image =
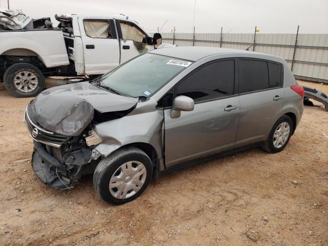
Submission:
<svg viewBox="0 0 328 246">
<path fill-rule="evenodd" d="M 17 97 L 36 96 L 45 87 L 41 71 L 28 63 L 11 65 L 4 74 L 6 89 Z"/>
</svg>

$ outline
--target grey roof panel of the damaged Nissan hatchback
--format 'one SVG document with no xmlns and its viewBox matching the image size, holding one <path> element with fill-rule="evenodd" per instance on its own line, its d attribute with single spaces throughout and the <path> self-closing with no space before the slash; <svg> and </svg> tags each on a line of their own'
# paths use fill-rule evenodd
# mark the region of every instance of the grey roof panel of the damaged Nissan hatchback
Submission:
<svg viewBox="0 0 328 246">
<path fill-rule="evenodd" d="M 223 53 L 230 53 L 234 55 L 261 54 L 253 51 L 246 51 L 246 50 L 216 48 L 216 47 L 192 47 L 192 46 L 168 47 L 168 48 L 156 49 L 150 51 L 150 53 L 166 55 L 166 56 L 171 56 L 171 57 L 186 59 L 191 61 L 197 61 L 209 55 L 223 54 Z"/>
</svg>

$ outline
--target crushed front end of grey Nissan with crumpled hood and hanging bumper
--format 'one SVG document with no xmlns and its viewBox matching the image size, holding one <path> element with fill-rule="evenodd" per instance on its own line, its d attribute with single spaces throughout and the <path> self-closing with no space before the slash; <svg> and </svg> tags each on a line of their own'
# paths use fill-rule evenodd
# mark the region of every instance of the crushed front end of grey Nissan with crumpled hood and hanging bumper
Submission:
<svg viewBox="0 0 328 246">
<path fill-rule="evenodd" d="M 108 103 L 118 95 L 77 83 L 44 91 L 28 104 L 24 122 L 34 143 L 32 168 L 47 187 L 70 189 L 83 175 L 92 174 L 101 159 L 97 146 L 103 142 L 95 126 L 136 108 L 136 98 L 120 98 L 123 106 L 106 108 L 101 104 L 105 97 Z M 120 147 L 118 140 L 113 142 Z"/>
</svg>

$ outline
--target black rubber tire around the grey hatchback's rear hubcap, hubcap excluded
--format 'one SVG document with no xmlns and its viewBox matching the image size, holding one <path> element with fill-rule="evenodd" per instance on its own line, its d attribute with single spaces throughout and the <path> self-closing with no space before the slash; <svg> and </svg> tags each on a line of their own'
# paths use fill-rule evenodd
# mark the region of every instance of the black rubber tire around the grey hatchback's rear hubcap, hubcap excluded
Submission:
<svg viewBox="0 0 328 246">
<path fill-rule="evenodd" d="M 273 144 L 273 141 L 274 141 L 274 133 L 276 131 L 276 129 L 278 128 L 278 126 L 280 124 L 282 124 L 283 122 L 286 122 L 289 124 L 290 126 L 290 133 L 289 133 L 289 136 L 288 136 L 288 139 L 284 142 L 284 144 L 279 147 L 279 148 L 276 148 Z M 293 129 L 294 129 L 294 126 L 293 126 L 293 121 L 292 119 L 288 116 L 288 115 L 283 115 L 281 116 L 277 122 L 275 123 L 275 125 L 273 126 L 270 134 L 269 134 L 269 137 L 268 137 L 268 140 L 265 141 L 262 145 L 262 149 L 269 152 L 269 153 L 278 153 L 280 151 L 282 151 L 286 145 L 288 144 L 291 136 L 292 136 L 292 133 L 293 133 Z"/>
</svg>

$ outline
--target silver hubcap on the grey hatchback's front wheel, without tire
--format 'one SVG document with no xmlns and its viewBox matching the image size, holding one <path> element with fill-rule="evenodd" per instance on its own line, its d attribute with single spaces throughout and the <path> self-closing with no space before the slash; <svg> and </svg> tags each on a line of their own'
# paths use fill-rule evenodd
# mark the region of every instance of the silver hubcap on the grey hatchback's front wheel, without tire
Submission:
<svg viewBox="0 0 328 246">
<path fill-rule="evenodd" d="M 136 194 L 146 181 L 147 171 L 139 161 L 121 165 L 109 180 L 109 191 L 117 199 L 126 199 Z"/>
</svg>

